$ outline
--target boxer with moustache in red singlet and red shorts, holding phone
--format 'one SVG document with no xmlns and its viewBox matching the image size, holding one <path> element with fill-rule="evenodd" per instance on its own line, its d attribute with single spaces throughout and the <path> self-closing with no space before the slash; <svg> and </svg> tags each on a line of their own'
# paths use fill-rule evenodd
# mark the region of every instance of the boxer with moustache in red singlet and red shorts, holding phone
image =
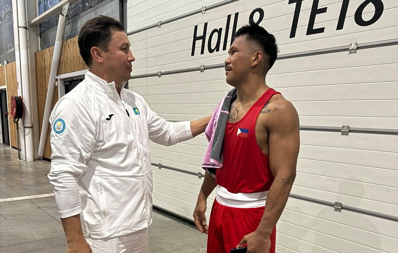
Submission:
<svg viewBox="0 0 398 253">
<path fill-rule="evenodd" d="M 236 88 L 222 149 L 222 168 L 205 174 L 194 211 L 208 234 L 207 253 L 275 253 L 276 223 L 296 176 L 299 120 L 293 104 L 269 88 L 265 75 L 278 53 L 275 37 L 255 24 L 240 28 L 225 60 Z M 207 197 L 217 187 L 209 226 Z"/>
</svg>

